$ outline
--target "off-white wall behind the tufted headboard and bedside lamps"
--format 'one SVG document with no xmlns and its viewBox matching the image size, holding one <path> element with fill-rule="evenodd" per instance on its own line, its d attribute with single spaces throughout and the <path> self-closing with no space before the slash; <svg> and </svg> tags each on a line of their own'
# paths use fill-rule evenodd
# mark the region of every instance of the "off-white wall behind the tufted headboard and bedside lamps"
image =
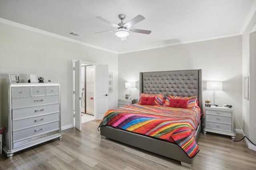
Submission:
<svg viewBox="0 0 256 170">
<path fill-rule="evenodd" d="M 140 72 L 202 69 L 203 104 L 212 92 L 206 81 L 222 81 L 223 90 L 216 91 L 216 104 L 230 104 L 242 122 L 242 37 L 228 37 L 176 45 L 118 56 L 118 96 L 124 98 L 125 82 L 137 82 L 131 96 L 139 97 Z M 235 117 L 236 118 L 236 117 Z M 237 118 L 236 129 L 241 129 Z"/>
</svg>

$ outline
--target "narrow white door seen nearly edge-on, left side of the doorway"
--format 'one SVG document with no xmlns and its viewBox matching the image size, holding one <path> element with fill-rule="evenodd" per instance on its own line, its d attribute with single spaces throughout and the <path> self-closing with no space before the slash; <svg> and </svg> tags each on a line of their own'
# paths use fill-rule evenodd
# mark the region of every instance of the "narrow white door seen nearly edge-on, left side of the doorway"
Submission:
<svg viewBox="0 0 256 170">
<path fill-rule="evenodd" d="M 75 63 L 75 127 L 81 130 L 81 61 Z"/>
</svg>

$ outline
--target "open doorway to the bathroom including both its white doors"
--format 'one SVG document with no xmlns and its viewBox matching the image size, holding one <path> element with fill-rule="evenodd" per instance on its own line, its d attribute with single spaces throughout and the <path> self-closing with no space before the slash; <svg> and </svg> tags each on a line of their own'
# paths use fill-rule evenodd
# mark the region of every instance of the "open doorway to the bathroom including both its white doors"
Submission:
<svg viewBox="0 0 256 170">
<path fill-rule="evenodd" d="M 87 69 L 90 69 L 90 71 L 88 71 L 90 72 L 90 75 L 87 76 L 90 78 L 88 79 L 88 83 L 86 83 L 86 79 L 84 79 L 84 85 L 82 85 L 82 67 L 84 67 L 83 77 L 86 78 L 85 70 L 87 70 L 87 66 Z M 82 117 L 84 117 L 84 115 L 82 116 L 82 112 L 84 112 L 87 117 L 91 116 L 90 120 L 100 120 L 108 110 L 108 65 L 98 65 L 96 63 L 72 60 L 72 67 L 72 101 L 74 108 L 73 122 L 74 127 L 81 130 Z M 88 89 L 88 92 L 86 89 Z M 88 96 L 86 95 L 86 92 Z M 84 100 L 82 99 L 83 97 Z M 90 104 L 93 104 L 93 106 Z M 86 108 L 86 105 L 88 108 Z M 85 108 L 82 109 L 82 106 Z"/>
</svg>

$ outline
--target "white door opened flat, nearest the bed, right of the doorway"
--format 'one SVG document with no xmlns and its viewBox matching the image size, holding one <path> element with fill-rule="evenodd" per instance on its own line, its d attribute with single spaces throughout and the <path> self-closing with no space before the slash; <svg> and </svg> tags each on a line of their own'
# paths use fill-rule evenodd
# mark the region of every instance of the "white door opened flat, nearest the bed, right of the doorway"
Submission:
<svg viewBox="0 0 256 170">
<path fill-rule="evenodd" d="M 96 120 L 108 111 L 108 65 L 95 65 Z"/>
</svg>

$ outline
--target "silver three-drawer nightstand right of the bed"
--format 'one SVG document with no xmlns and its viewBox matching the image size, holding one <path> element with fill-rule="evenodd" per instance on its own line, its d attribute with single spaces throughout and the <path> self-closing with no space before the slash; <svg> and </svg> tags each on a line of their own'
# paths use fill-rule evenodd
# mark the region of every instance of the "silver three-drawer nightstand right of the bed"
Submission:
<svg viewBox="0 0 256 170">
<path fill-rule="evenodd" d="M 204 129 L 207 132 L 229 135 L 236 139 L 234 126 L 234 108 L 228 107 L 204 107 Z"/>
</svg>

